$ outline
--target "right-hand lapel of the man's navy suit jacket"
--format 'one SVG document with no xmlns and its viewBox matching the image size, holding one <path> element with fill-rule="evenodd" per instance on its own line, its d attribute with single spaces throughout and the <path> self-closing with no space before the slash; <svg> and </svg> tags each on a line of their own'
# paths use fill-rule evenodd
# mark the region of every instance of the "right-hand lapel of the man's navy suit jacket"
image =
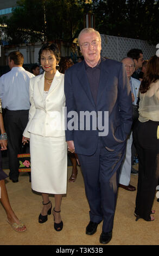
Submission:
<svg viewBox="0 0 159 256">
<path fill-rule="evenodd" d="M 108 66 L 106 65 L 106 60 L 101 60 L 101 69 L 100 69 L 100 79 L 99 79 L 99 88 L 97 95 L 97 105 L 100 102 L 100 97 L 103 95 L 103 90 L 105 89 L 106 82 L 109 76 Z"/>
</svg>

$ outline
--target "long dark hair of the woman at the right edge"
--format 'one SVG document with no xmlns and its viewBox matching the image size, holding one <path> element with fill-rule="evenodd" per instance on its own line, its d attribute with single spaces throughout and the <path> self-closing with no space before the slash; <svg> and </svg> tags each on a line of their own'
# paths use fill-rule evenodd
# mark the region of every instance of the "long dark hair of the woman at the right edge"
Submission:
<svg viewBox="0 0 159 256">
<path fill-rule="evenodd" d="M 159 79 L 159 58 L 152 56 L 147 65 L 147 71 L 143 76 L 139 92 L 146 93 L 150 89 L 150 84 L 156 82 Z"/>
</svg>

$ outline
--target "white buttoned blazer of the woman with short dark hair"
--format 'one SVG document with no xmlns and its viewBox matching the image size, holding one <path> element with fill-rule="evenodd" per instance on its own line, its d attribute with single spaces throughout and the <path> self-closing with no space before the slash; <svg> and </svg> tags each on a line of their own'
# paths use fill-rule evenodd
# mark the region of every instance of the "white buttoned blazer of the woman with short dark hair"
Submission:
<svg viewBox="0 0 159 256">
<path fill-rule="evenodd" d="M 46 100 L 44 94 L 44 73 L 30 79 L 29 121 L 23 136 L 30 138 L 30 133 L 44 137 L 65 136 L 64 75 L 56 70 Z"/>
</svg>

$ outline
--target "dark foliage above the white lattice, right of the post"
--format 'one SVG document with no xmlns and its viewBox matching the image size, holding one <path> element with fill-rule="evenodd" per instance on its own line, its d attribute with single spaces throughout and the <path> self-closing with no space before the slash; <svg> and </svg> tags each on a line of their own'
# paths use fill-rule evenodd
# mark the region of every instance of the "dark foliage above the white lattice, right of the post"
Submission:
<svg viewBox="0 0 159 256">
<path fill-rule="evenodd" d="M 101 34 L 159 42 L 159 1 L 93 1 L 96 29 Z"/>
</svg>

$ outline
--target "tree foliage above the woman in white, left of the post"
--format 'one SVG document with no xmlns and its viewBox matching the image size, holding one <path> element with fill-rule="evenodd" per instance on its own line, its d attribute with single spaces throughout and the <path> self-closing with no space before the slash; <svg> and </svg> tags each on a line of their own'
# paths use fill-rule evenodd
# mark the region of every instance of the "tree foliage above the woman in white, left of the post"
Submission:
<svg viewBox="0 0 159 256">
<path fill-rule="evenodd" d="M 63 40 L 72 42 L 83 28 L 86 1 L 81 0 L 20 0 L 13 9 L 5 33 L 8 40 L 35 42 L 43 40 Z M 5 21 L 4 21 L 5 20 Z"/>
</svg>

